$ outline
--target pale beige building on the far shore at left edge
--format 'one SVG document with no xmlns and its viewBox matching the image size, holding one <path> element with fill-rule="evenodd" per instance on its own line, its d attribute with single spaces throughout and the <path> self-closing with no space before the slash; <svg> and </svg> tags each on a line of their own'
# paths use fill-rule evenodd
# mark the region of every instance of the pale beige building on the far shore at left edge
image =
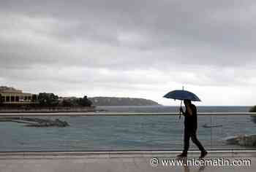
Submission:
<svg viewBox="0 0 256 172">
<path fill-rule="evenodd" d="M 16 90 L 13 87 L 0 87 L 1 102 L 4 104 L 22 104 L 34 103 L 31 93 L 23 93 L 22 90 Z"/>
</svg>

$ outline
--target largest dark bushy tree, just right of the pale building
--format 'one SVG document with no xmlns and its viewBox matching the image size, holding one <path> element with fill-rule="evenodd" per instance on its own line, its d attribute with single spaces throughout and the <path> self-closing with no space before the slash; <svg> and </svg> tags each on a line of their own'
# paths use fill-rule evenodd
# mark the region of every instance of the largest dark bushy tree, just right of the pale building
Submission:
<svg viewBox="0 0 256 172">
<path fill-rule="evenodd" d="M 59 97 L 53 93 L 39 93 L 38 102 L 40 106 L 57 106 Z"/>
</svg>

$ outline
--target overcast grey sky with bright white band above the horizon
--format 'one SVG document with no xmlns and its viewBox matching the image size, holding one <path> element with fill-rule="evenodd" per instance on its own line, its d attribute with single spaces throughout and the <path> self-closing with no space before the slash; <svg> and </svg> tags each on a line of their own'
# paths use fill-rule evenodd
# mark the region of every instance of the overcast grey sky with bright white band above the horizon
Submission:
<svg viewBox="0 0 256 172">
<path fill-rule="evenodd" d="M 256 104 L 256 1 L 0 0 L 0 85 Z"/>
</svg>

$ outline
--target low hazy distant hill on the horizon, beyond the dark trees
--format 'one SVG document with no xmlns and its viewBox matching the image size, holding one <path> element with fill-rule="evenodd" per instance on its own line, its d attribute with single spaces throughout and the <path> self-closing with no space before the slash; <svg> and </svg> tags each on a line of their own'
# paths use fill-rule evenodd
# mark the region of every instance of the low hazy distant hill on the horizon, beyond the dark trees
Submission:
<svg viewBox="0 0 256 172">
<path fill-rule="evenodd" d="M 156 101 L 144 98 L 115 98 L 115 97 L 93 97 L 89 98 L 94 106 L 153 106 L 159 105 Z"/>
</svg>

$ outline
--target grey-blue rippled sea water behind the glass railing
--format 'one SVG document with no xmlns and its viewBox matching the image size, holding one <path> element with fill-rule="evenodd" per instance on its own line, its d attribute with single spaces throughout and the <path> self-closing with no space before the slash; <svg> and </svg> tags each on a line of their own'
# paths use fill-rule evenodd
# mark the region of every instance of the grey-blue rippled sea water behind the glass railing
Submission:
<svg viewBox="0 0 256 172">
<path fill-rule="evenodd" d="M 104 107 L 99 107 L 102 109 Z M 129 110 L 127 110 L 129 109 Z M 173 111 L 170 111 L 173 109 Z M 108 107 L 109 112 L 176 112 L 174 106 Z M 248 112 L 249 107 L 199 107 L 199 112 Z M 50 117 L 69 122 L 67 128 L 29 128 L 14 122 L 0 123 L 0 151 L 86 151 L 116 149 L 182 149 L 183 118 L 176 116 Z M 219 128 L 203 128 L 222 125 Z M 207 149 L 240 148 L 225 138 L 255 134 L 249 115 L 198 116 L 198 138 Z M 196 147 L 191 144 L 192 149 Z"/>
</svg>

